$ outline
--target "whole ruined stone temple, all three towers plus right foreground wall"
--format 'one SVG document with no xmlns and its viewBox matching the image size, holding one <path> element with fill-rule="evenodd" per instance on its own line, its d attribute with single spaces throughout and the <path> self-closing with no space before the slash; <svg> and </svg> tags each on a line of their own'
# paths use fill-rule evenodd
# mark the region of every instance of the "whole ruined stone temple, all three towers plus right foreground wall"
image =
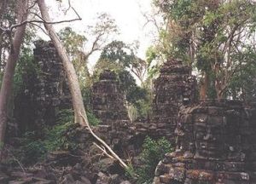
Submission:
<svg viewBox="0 0 256 184">
<path fill-rule="evenodd" d="M 41 72 L 28 78 L 27 89 L 18 96 L 16 118 L 35 126 L 54 124 L 55 112 L 71 106 L 65 74 L 51 43 L 38 42 L 34 54 Z M 255 105 L 196 101 L 190 71 L 181 61 L 166 61 L 154 81 L 153 117 L 135 123 L 128 118 L 117 76 L 102 72 L 92 88 L 93 112 L 102 121 L 96 134 L 120 155 L 136 155 L 137 143 L 146 135 L 171 141 L 175 152 L 158 164 L 154 184 L 256 183 Z"/>
</svg>

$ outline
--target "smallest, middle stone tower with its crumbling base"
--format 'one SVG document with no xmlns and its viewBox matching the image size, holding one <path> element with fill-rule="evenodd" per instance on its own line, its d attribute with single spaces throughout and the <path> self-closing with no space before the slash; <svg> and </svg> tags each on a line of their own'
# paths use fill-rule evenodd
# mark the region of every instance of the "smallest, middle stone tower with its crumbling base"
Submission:
<svg viewBox="0 0 256 184">
<path fill-rule="evenodd" d="M 111 145 L 115 151 L 133 151 L 135 127 L 131 124 L 125 107 L 125 95 L 119 88 L 115 72 L 106 70 L 92 87 L 93 112 L 102 123 L 96 127 L 97 135 Z"/>
</svg>

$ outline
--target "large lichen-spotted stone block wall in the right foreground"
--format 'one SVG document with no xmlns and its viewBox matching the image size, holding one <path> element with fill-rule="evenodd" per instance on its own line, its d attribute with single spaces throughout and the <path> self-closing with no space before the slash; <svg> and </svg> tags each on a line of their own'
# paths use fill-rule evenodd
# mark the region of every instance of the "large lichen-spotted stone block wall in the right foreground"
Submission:
<svg viewBox="0 0 256 184">
<path fill-rule="evenodd" d="M 183 107 L 176 151 L 158 164 L 154 183 L 255 183 L 255 114 L 239 101 Z"/>
</svg>

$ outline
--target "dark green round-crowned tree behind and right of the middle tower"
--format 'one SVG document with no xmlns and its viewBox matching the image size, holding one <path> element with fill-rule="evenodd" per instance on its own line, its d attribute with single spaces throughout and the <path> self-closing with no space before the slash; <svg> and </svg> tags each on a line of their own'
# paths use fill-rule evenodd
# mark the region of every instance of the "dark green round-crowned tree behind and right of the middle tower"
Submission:
<svg viewBox="0 0 256 184">
<path fill-rule="evenodd" d="M 115 40 L 102 50 L 100 59 L 95 66 L 94 76 L 99 76 L 106 69 L 116 72 L 119 77 L 120 89 L 125 93 L 126 101 L 131 106 L 137 107 L 140 116 L 143 116 L 146 112 L 141 111 L 143 108 L 141 105 L 147 104 L 147 102 L 143 102 L 148 100 L 148 91 L 137 85 L 131 73 L 135 74 L 143 83 L 147 67 L 148 63 L 137 58 L 135 50 L 131 45 Z M 142 115 L 141 112 L 145 113 Z"/>
</svg>

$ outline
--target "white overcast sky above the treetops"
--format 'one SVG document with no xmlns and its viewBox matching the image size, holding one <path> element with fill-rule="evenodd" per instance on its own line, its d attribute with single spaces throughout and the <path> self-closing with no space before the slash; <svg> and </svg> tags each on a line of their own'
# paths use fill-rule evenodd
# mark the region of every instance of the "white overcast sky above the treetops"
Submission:
<svg viewBox="0 0 256 184">
<path fill-rule="evenodd" d="M 65 0 L 63 2 L 65 4 Z M 138 40 L 140 43 L 138 56 L 144 59 L 145 51 L 152 41 L 149 35 L 152 35 L 153 26 L 144 27 L 146 20 L 142 12 L 150 11 L 151 2 L 152 0 L 71 0 L 73 8 L 77 10 L 82 20 L 69 23 L 69 25 L 58 25 L 55 26 L 55 29 L 58 31 L 61 27 L 72 26 L 74 31 L 81 33 L 87 25 L 93 24 L 97 13 L 106 12 L 116 20 L 117 26 L 119 26 L 120 35 L 116 39 L 125 43 Z M 46 0 L 46 3 L 53 20 L 75 17 L 74 14 L 71 14 L 72 10 L 64 17 L 61 11 L 63 7 L 57 6 L 53 0 Z M 95 61 L 96 55 L 90 59 L 90 65 L 93 65 Z"/>
</svg>

